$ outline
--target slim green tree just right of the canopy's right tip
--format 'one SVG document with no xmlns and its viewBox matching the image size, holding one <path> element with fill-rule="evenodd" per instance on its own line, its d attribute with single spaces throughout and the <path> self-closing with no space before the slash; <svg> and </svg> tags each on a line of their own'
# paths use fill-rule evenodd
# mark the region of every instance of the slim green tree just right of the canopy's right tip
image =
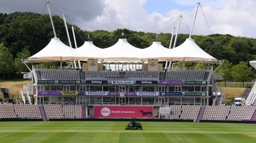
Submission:
<svg viewBox="0 0 256 143">
<path fill-rule="evenodd" d="M 228 60 L 224 60 L 224 63 L 217 70 L 217 73 L 223 73 L 224 74 L 222 76 L 222 80 L 225 82 L 225 87 L 226 87 L 226 81 L 230 80 L 232 78 L 231 68 L 232 68 L 232 63 L 229 63 Z"/>
</svg>

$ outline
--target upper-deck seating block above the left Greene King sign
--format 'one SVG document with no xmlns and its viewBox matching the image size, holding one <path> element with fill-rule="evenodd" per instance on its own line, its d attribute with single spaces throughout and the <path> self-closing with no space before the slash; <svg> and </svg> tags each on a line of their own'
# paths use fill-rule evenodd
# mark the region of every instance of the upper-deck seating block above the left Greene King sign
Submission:
<svg viewBox="0 0 256 143">
<path fill-rule="evenodd" d="M 42 80 L 79 80 L 80 74 L 78 70 L 67 69 L 41 69 Z"/>
</svg>

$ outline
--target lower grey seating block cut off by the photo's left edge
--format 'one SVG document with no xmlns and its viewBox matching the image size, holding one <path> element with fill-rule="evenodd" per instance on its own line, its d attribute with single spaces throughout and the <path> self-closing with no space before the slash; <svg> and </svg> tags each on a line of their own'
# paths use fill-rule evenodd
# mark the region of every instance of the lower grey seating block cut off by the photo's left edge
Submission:
<svg viewBox="0 0 256 143">
<path fill-rule="evenodd" d="M 0 104 L 0 118 L 17 118 L 12 104 Z"/>
</svg>

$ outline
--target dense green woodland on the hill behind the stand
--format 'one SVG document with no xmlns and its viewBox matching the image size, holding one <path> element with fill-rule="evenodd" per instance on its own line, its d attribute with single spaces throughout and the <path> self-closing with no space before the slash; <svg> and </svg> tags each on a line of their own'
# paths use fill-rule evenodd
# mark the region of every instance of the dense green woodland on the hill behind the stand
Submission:
<svg viewBox="0 0 256 143">
<path fill-rule="evenodd" d="M 53 16 L 57 37 L 68 44 L 65 25 L 63 20 L 57 15 Z M 72 34 L 71 24 L 68 23 L 69 33 Z M 169 46 L 170 33 L 145 33 L 131 31 L 127 29 L 117 29 L 113 32 L 105 30 L 83 31 L 74 25 L 78 47 L 84 41 L 93 41 L 100 47 L 106 48 L 114 45 L 119 38 L 123 38 L 135 47 L 146 48 L 153 41 L 159 41 L 164 47 Z M 11 14 L 0 13 L 0 74 L 9 73 L 20 74 L 20 71 L 26 71 L 21 66 L 21 59 L 26 59 L 44 48 L 51 38 L 54 37 L 51 21 L 48 14 L 37 14 L 31 12 L 15 12 Z M 70 36 L 72 46 L 74 46 L 73 36 Z M 182 44 L 188 34 L 179 34 L 177 46 Z M 246 37 L 235 37 L 232 35 L 212 34 L 207 36 L 193 35 L 199 47 L 219 60 L 225 60 L 225 63 L 219 68 L 218 72 L 225 73 L 224 80 L 247 81 L 255 78 L 255 72 L 249 66 L 249 61 L 256 60 L 256 39 Z M 44 63 L 55 64 L 55 63 Z M 190 64 L 195 66 L 196 64 Z M 189 64 L 188 64 L 189 66 Z M 200 64 L 196 66 L 201 66 Z M 232 73 L 233 70 L 241 66 L 242 73 L 248 68 L 249 74 L 246 78 L 237 79 Z M 5 67 L 5 68 L 3 68 Z M 13 68 L 14 67 L 14 68 Z M 246 69 L 245 69 L 246 68 Z M 242 78 L 241 75 L 239 78 Z"/>
</svg>

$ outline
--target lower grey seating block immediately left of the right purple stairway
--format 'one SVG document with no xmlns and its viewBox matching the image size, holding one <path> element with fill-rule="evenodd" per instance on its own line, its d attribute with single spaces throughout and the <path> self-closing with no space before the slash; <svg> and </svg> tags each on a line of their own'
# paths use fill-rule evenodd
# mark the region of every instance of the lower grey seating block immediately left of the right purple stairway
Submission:
<svg viewBox="0 0 256 143">
<path fill-rule="evenodd" d="M 197 119 L 201 106 L 182 106 L 181 119 Z"/>
</svg>

